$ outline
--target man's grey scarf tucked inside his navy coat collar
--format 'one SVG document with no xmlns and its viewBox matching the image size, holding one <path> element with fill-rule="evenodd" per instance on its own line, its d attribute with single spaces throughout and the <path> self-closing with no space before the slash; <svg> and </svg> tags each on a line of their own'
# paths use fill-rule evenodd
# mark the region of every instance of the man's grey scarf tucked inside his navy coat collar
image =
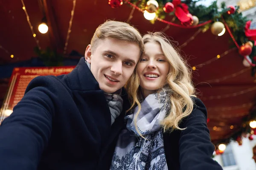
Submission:
<svg viewBox="0 0 256 170">
<path fill-rule="evenodd" d="M 86 64 L 90 68 L 90 63 L 85 60 Z M 122 89 L 116 91 L 117 94 L 107 94 L 105 93 L 106 100 L 108 102 L 109 110 L 111 113 L 111 125 L 115 122 L 115 119 L 122 112 L 123 99 L 120 96 Z"/>
</svg>

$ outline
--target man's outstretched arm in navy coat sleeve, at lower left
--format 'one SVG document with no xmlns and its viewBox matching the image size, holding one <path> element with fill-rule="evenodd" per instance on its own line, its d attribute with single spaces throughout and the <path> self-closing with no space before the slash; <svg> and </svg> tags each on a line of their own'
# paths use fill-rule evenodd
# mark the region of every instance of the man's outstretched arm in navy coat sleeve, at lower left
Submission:
<svg viewBox="0 0 256 170">
<path fill-rule="evenodd" d="M 51 79 L 51 78 L 50 78 Z M 0 126 L 1 170 L 36 170 L 52 130 L 57 95 L 49 78 L 29 83 L 23 99 Z"/>
</svg>

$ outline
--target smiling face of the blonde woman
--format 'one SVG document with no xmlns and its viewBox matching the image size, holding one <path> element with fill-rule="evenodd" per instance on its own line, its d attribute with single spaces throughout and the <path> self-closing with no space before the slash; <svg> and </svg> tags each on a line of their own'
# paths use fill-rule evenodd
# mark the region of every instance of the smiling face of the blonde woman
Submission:
<svg viewBox="0 0 256 170">
<path fill-rule="evenodd" d="M 146 98 L 166 83 L 170 66 L 160 44 L 147 42 L 144 47 L 145 52 L 138 63 L 137 73 L 140 78 L 141 93 Z"/>
</svg>

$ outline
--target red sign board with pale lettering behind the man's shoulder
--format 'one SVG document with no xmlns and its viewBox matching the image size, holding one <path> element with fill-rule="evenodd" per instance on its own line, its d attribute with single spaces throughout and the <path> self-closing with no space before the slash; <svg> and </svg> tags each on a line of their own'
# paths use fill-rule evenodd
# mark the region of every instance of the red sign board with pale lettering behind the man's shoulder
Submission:
<svg viewBox="0 0 256 170">
<path fill-rule="evenodd" d="M 14 68 L 9 80 L 9 88 L 0 110 L 0 123 L 12 113 L 12 109 L 22 99 L 29 82 L 38 76 L 70 73 L 75 66 L 64 67 L 22 67 Z"/>
</svg>

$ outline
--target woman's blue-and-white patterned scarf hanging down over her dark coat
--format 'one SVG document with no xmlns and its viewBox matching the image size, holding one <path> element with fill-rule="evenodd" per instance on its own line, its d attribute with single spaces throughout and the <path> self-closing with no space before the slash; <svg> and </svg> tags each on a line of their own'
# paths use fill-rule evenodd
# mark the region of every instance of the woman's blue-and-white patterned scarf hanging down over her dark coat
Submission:
<svg viewBox="0 0 256 170">
<path fill-rule="evenodd" d="M 119 134 L 110 170 L 168 170 L 160 122 L 169 109 L 165 91 L 145 98 L 137 117 L 137 128 L 145 139 L 139 136 L 134 124 L 138 106 L 125 116 L 127 128 Z"/>
</svg>

